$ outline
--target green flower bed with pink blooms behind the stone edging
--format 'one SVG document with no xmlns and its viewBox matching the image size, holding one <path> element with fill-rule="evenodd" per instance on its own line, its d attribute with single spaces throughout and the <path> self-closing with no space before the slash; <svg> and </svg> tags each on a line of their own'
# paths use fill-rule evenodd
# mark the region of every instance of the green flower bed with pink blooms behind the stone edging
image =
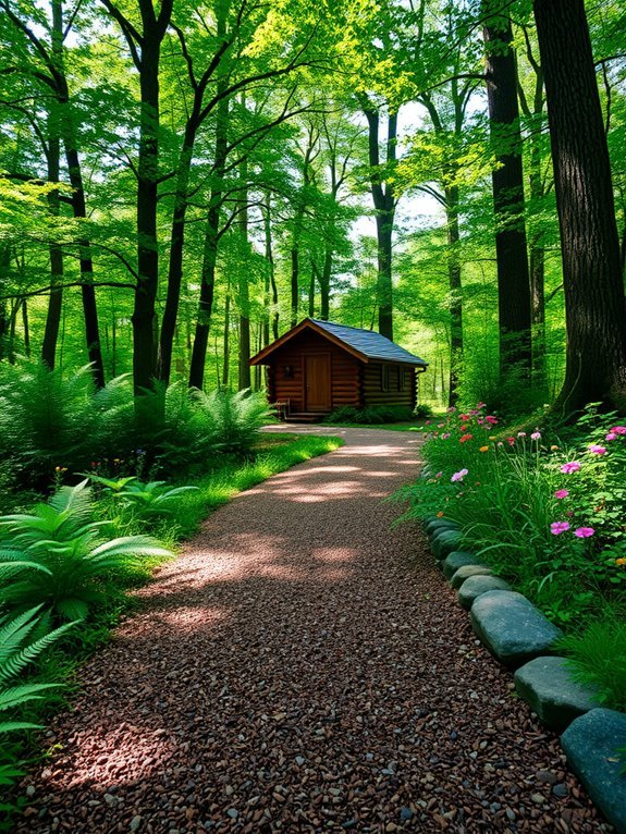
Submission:
<svg viewBox="0 0 626 834">
<path fill-rule="evenodd" d="M 507 437 L 482 406 L 453 410 L 424 447 L 432 477 L 398 493 L 405 518 L 458 522 L 494 573 L 561 626 L 574 624 L 626 587 L 626 428 L 614 419 L 591 414 L 573 447 L 560 447 L 537 430 Z"/>
</svg>

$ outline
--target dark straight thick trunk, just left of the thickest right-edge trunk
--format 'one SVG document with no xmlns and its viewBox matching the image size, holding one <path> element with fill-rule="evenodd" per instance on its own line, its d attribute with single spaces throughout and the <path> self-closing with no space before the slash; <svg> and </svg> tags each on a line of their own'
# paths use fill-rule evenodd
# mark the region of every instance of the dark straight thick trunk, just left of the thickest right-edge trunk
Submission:
<svg viewBox="0 0 626 834">
<path fill-rule="evenodd" d="M 490 0 L 484 3 L 489 9 Z M 517 68 L 508 17 L 484 27 L 487 97 L 498 167 L 492 172 L 500 324 L 500 376 L 512 366 L 530 379 L 530 278 L 524 221 L 524 170 Z"/>
</svg>

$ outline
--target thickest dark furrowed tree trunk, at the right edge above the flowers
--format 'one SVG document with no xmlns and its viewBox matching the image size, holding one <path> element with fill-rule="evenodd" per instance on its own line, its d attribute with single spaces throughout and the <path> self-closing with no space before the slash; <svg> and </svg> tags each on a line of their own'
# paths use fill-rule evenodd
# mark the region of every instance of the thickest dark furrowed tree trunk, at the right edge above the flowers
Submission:
<svg viewBox="0 0 626 834">
<path fill-rule="evenodd" d="M 561 226 L 567 326 L 554 408 L 626 409 L 626 305 L 611 165 L 584 0 L 535 0 Z"/>
</svg>

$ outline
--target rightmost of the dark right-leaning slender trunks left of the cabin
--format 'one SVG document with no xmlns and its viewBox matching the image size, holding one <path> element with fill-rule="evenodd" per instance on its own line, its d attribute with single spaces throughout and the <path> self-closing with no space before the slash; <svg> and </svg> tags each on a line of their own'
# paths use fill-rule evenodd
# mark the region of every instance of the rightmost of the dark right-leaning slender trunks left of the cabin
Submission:
<svg viewBox="0 0 626 834">
<path fill-rule="evenodd" d="M 189 364 L 189 387 L 201 389 L 205 380 L 207 345 L 213 311 L 213 295 L 216 286 L 216 266 L 220 241 L 220 216 L 222 207 L 222 188 L 226 164 L 226 145 L 229 127 L 229 101 L 222 99 L 218 106 L 216 121 L 216 156 L 213 162 L 213 185 L 209 201 L 209 213 L 205 234 L 205 250 L 202 258 L 202 275 L 200 282 L 200 298 L 192 359 Z M 226 375 L 228 376 L 228 375 Z M 226 384 L 224 382 L 224 384 Z"/>
</svg>

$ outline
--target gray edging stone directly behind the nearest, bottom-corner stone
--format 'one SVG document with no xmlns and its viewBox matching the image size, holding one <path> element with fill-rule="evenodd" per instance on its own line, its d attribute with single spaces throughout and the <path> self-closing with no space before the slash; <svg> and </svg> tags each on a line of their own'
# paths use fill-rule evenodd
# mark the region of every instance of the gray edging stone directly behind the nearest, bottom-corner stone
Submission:
<svg viewBox="0 0 626 834">
<path fill-rule="evenodd" d="M 572 679 L 565 658 L 536 658 L 515 673 L 515 688 L 550 729 L 563 733 L 592 710 L 594 690 Z"/>
</svg>

